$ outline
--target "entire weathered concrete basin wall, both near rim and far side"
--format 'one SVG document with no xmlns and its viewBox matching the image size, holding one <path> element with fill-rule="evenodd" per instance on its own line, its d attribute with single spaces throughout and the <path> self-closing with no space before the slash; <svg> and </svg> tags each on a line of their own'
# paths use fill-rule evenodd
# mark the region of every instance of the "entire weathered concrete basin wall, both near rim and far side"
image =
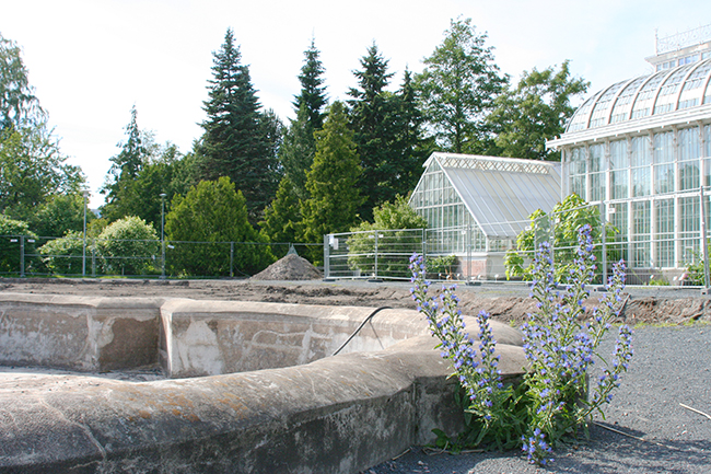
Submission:
<svg viewBox="0 0 711 474">
<path fill-rule="evenodd" d="M 149 317 L 151 311 L 160 317 Z M 270 332 L 281 325 L 283 334 L 303 334 L 294 339 L 301 345 L 298 360 L 318 357 L 322 350 L 330 354 L 339 345 L 326 342 L 326 336 L 312 345 L 318 340 L 314 334 L 322 334 L 319 325 L 324 334 L 345 340 L 371 311 L 4 293 L 0 340 L 14 348 L 2 349 L 3 360 L 15 357 L 24 363 L 51 362 L 62 347 L 81 348 L 75 355 L 63 354 L 61 365 L 86 370 L 106 367 L 109 360 L 128 365 L 126 356 L 109 357 L 116 345 L 136 344 L 131 334 L 137 339 L 153 335 L 155 347 L 162 340 L 168 367 L 188 360 L 190 370 L 197 370 L 195 361 L 202 360 L 200 370 L 213 370 L 212 357 L 223 359 L 223 369 L 232 363 L 221 346 L 230 335 L 241 334 L 233 340 L 264 348 L 256 327 L 266 323 L 266 314 L 278 322 Z M 151 330 L 147 321 L 153 322 Z M 476 328 L 475 322 L 467 324 Z M 505 325 L 493 326 L 500 369 L 508 377 L 520 375 L 525 366 L 521 335 Z M 421 335 L 427 332 L 418 313 L 392 310 L 373 317 L 372 327 L 364 328 L 351 350 L 400 342 L 301 366 L 141 383 L 91 374 L 0 377 L 0 471 L 357 473 L 412 444 L 431 442 L 433 428 L 452 435 L 462 428 L 462 411 L 453 396 L 457 385 L 447 379 L 447 362 L 432 349 L 435 340 Z M 88 338 L 95 334 L 101 337 L 92 345 Z M 188 342 L 212 342 L 219 350 L 186 359 L 171 354 L 184 350 Z M 33 348 L 45 343 L 49 349 L 33 359 Z"/>
</svg>

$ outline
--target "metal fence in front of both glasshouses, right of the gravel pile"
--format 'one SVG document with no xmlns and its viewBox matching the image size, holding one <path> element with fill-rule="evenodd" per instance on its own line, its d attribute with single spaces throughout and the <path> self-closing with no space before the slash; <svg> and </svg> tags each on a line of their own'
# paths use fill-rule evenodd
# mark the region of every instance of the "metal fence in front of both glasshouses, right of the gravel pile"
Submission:
<svg viewBox="0 0 711 474">
<path fill-rule="evenodd" d="M 606 281 L 613 264 L 623 259 L 629 285 L 709 286 L 703 222 L 685 234 L 654 230 L 649 222 L 633 221 L 630 229 L 629 216 L 615 216 L 604 205 L 564 209 L 535 221 L 488 224 L 521 229 L 518 238 L 527 241 L 528 251 L 518 251 L 511 236 L 487 238 L 477 226 L 329 234 L 324 238 L 324 274 L 333 279 L 409 279 L 409 257 L 418 253 L 426 257 L 431 279 L 522 279 L 522 273 L 511 275 L 511 255 L 517 255 L 525 273 L 534 258 L 533 248 L 546 241 L 552 244 L 555 264 L 561 267 L 573 258 L 574 226 L 581 222 L 594 226 L 597 282 Z M 450 256 L 454 263 L 447 262 Z"/>
</svg>

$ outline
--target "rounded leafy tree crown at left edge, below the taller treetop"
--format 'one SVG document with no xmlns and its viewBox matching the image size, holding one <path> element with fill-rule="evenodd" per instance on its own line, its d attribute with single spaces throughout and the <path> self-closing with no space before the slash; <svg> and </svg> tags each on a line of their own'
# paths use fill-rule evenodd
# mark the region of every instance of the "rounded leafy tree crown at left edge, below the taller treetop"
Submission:
<svg viewBox="0 0 711 474">
<path fill-rule="evenodd" d="M 0 131 L 0 211 L 27 220 L 53 196 L 77 193 L 84 176 L 66 161 L 44 123 Z"/>
</svg>

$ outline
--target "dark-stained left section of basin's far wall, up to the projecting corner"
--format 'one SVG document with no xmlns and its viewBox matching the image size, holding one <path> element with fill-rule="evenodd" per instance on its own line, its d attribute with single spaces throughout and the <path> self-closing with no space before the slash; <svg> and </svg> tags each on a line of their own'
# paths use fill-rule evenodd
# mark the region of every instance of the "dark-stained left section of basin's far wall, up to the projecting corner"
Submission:
<svg viewBox="0 0 711 474">
<path fill-rule="evenodd" d="M 162 303 L 0 293 L 0 365 L 79 371 L 155 365 Z"/>
</svg>

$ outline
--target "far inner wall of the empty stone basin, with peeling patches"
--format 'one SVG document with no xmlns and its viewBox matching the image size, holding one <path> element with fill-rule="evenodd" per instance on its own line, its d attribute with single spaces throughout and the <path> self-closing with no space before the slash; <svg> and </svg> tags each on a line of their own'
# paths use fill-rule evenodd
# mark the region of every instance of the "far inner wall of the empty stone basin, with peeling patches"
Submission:
<svg viewBox="0 0 711 474">
<path fill-rule="evenodd" d="M 103 372 L 160 363 L 170 378 L 298 366 L 333 355 L 374 310 L 0 293 L 0 365 Z M 342 352 L 428 334 L 417 311 L 383 310 Z M 498 328 L 501 342 L 520 338 Z"/>
</svg>

